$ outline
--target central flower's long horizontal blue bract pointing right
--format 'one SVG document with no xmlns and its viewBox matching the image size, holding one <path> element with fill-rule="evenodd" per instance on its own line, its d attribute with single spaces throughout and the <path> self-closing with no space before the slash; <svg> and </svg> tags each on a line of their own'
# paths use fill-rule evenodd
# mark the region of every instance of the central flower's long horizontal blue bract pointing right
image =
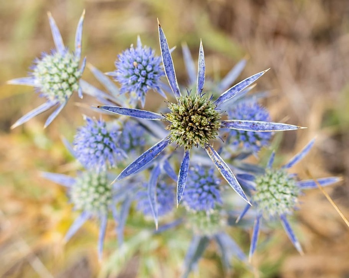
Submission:
<svg viewBox="0 0 349 278">
<path fill-rule="evenodd" d="M 262 121 L 248 121 L 248 120 L 226 120 L 221 121 L 222 128 L 251 131 L 251 132 L 274 132 L 274 131 L 292 131 L 305 129 L 294 125 L 262 122 Z"/>
</svg>

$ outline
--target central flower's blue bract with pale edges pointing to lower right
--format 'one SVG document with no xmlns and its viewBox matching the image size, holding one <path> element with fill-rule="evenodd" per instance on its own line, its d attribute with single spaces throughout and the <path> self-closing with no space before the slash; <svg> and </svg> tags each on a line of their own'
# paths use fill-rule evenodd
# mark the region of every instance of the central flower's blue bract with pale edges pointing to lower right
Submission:
<svg viewBox="0 0 349 278">
<path fill-rule="evenodd" d="M 243 198 L 247 203 L 251 205 L 250 201 L 248 200 L 247 196 L 243 192 L 233 172 L 230 170 L 229 166 L 224 162 L 224 160 L 219 156 L 219 154 L 214 150 L 214 148 L 211 145 L 206 144 L 205 150 L 208 156 L 213 161 L 214 165 L 216 165 L 218 171 L 221 173 L 223 178 L 228 182 L 231 188 L 233 188 L 241 198 Z"/>
</svg>

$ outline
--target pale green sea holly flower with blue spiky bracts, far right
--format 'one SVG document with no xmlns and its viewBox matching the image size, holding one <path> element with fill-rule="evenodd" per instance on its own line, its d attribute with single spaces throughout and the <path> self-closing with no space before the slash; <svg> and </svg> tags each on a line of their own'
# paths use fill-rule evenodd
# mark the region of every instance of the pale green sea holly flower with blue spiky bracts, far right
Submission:
<svg viewBox="0 0 349 278">
<path fill-rule="evenodd" d="M 252 197 L 252 204 L 257 210 L 257 216 L 252 233 L 249 254 L 250 259 L 256 250 L 262 218 L 267 221 L 279 218 L 293 245 L 301 254 L 303 253 L 302 247 L 287 220 L 287 216 L 292 215 L 293 211 L 299 205 L 298 196 L 301 194 L 302 190 L 316 188 L 317 184 L 312 179 L 299 181 L 297 175 L 289 174 L 287 169 L 302 160 L 310 151 L 313 144 L 314 140 L 310 141 L 298 154 L 291 158 L 288 163 L 277 169 L 272 168 L 275 157 L 275 153 L 273 152 L 265 169 L 265 173 L 255 177 L 255 190 Z M 321 186 L 327 186 L 340 181 L 340 178 L 319 178 L 317 181 Z M 245 207 L 237 221 L 246 214 L 249 208 L 249 206 Z"/>
</svg>

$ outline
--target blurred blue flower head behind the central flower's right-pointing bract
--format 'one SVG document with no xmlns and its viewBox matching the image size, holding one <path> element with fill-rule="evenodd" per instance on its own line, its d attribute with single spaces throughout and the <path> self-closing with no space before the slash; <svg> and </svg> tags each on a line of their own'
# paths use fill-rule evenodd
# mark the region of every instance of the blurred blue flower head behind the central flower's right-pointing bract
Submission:
<svg viewBox="0 0 349 278">
<path fill-rule="evenodd" d="M 256 102 L 241 102 L 227 112 L 232 120 L 270 121 L 268 111 Z M 269 144 L 271 136 L 271 132 L 229 130 L 227 142 L 234 148 L 242 144 L 245 150 L 257 152 L 262 146 Z"/>
</svg>

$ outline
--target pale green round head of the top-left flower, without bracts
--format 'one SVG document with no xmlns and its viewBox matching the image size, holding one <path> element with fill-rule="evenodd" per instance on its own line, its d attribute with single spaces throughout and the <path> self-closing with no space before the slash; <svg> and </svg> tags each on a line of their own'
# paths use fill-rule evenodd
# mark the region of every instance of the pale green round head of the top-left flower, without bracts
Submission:
<svg viewBox="0 0 349 278">
<path fill-rule="evenodd" d="M 41 96 L 49 101 L 64 103 L 74 91 L 79 89 L 82 75 L 79 69 L 79 57 L 73 53 L 52 51 L 35 60 L 32 75 Z"/>
</svg>

